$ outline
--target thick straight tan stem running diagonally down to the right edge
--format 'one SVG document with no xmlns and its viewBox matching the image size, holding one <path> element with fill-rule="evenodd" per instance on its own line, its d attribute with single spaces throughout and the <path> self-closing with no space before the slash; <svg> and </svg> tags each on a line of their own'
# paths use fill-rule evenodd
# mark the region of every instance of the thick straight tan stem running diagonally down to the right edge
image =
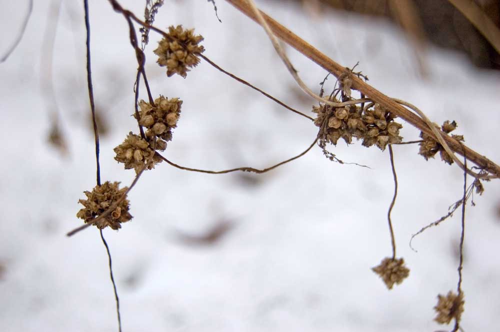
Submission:
<svg viewBox="0 0 500 332">
<path fill-rule="evenodd" d="M 243 12 L 245 15 L 247 15 L 254 21 L 258 22 L 258 18 L 255 15 L 248 1 L 246 0 L 226 0 L 226 1 L 231 3 L 238 10 Z M 279 24 L 270 16 L 266 15 L 262 11 L 260 11 L 260 13 L 264 17 L 266 23 L 269 25 L 269 28 L 272 29 L 273 33 L 278 38 L 288 43 L 297 51 L 299 51 L 300 53 L 311 59 L 313 62 L 323 67 L 326 71 L 331 72 L 336 77 L 340 76 L 342 73 L 345 72 L 345 67 L 339 65 L 338 63 L 336 63 L 335 61 L 333 61 L 332 59 L 330 59 L 329 57 L 327 57 L 326 55 L 324 55 L 323 53 L 312 47 L 310 44 L 302 40 L 300 37 L 298 37 L 296 34 L 291 32 L 283 25 Z M 351 88 L 358 90 L 360 93 L 367 96 L 373 102 L 383 105 L 385 108 L 387 108 L 389 112 L 392 112 L 393 114 L 399 116 L 412 126 L 418 128 L 420 131 L 438 140 L 437 137 L 435 137 L 435 134 L 432 132 L 432 129 L 429 128 L 427 124 L 419 116 L 407 110 L 406 108 L 402 107 L 394 100 L 384 95 L 380 91 L 376 90 L 369 84 L 365 83 L 362 79 L 356 77 L 355 75 L 351 75 L 350 79 L 352 80 Z M 443 132 L 439 133 L 452 151 L 461 155 L 464 154 L 464 156 L 469 161 L 479 166 L 480 169 L 484 169 L 487 172 L 491 173 L 493 177 L 495 178 L 500 177 L 500 166 L 496 165 L 486 157 L 480 155 L 479 153 L 475 152 L 474 150 L 466 146 L 463 146 L 462 150 L 462 146 L 456 140 L 452 139 Z"/>
</svg>

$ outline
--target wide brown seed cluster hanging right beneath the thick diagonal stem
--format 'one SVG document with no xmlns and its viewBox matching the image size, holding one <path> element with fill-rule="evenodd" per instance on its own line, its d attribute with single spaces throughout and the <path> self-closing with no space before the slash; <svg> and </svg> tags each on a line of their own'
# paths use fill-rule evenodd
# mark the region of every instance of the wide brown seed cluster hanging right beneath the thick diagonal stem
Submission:
<svg viewBox="0 0 500 332">
<path fill-rule="evenodd" d="M 313 106 L 312 112 L 317 114 L 314 123 L 320 128 L 320 137 L 333 145 L 339 138 L 350 144 L 355 137 L 363 140 L 363 146 L 376 145 L 383 151 L 387 144 L 402 140 L 399 136 L 402 126 L 393 121 L 395 115 L 379 104 L 364 111 L 355 105 L 335 108 L 320 104 Z"/>
</svg>

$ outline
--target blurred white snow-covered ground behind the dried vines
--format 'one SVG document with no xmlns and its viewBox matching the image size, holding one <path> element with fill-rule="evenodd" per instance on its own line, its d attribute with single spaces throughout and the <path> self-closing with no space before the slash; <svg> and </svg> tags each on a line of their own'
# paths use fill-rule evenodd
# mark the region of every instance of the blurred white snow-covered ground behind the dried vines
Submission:
<svg viewBox="0 0 500 332">
<path fill-rule="evenodd" d="M 27 1 L 2 4 L 2 50 L 17 33 Z M 53 81 L 69 155 L 46 144 L 49 105 L 40 88 L 40 56 L 50 1 L 35 1 L 26 33 L 0 65 L 0 331 L 116 331 L 107 257 L 94 228 L 74 237 L 82 191 L 95 185 L 88 125 L 81 1 L 63 1 L 54 47 Z M 121 1 L 141 15 L 143 1 Z M 220 24 L 207 1 L 165 1 L 156 25 L 194 26 L 205 55 L 223 68 L 310 114 L 304 97 L 263 30 L 224 1 Z M 403 35 L 382 20 L 260 1 L 292 31 L 345 66 L 359 61 L 385 94 L 419 106 L 434 121 L 456 120 L 457 133 L 479 153 L 500 161 L 500 76 L 479 71 L 462 55 L 430 48 L 421 79 Z M 128 185 L 132 171 L 112 148 L 135 130 L 132 84 L 136 64 L 125 20 L 107 1 L 91 0 L 95 98 L 110 127 L 101 137 L 103 180 Z M 50 16 L 50 19 L 54 19 Z M 166 78 L 146 48 L 152 91 L 179 96 L 182 114 L 166 156 L 188 167 L 264 168 L 304 150 L 317 128 L 202 62 L 186 79 Z M 318 89 L 325 71 L 287 48 L 306 83 Z M 46 82 L 43 82 L 46 86 Z M 327 81 L 331 89 L 333 80 Z M 140 89 L 140 97 L 145 92 Z M 404 123 L 403 123 L 404 125 Z M 410 126 L 406 140 L 417 139 Z M 160 164 L 131 191 L 132 222 L 105 230 L 120 296 L 123 331 L 435 331 L 437 294 L 454 290 L 459 213 L 408 241 L 461 197 L 462 173 L 417 146 L 395 146 L 399 196 L 392 214 L 397 256 L 411 269 L 387 291 L 371 272 L 390 256 L 386 210 L 392 198 L 388 152 L 340 143 L 339 165 L 315 148 L 260 176 L 206 175 Z M 243 176 L 244 175 L 244 176 Z M 500 315 L 500 188 L 485 183 L 467 209 L 463 290 L 465 331 L 498 331 Z M 233 227 L 218 242 L 193 246 L 179 234 Z M 451 329 L 451 326 L 448 327 Z"/>
</svg>

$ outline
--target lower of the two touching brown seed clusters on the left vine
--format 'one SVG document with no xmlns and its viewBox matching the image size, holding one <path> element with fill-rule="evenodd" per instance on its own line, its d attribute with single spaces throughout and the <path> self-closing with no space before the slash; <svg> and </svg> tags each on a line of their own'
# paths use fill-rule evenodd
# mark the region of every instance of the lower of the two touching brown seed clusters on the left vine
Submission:
<svg viewBox="0 0 500 332">
<path fill-rule="evenodd" d="M 138 173 L 142 168 L 151 169 L 161 162 L 149 143 L 138 135 L 129 132 L 123 143 L 114 148 L 114 160 L 125 164 L 125 169 L 133 168 Z"/>
</svg>

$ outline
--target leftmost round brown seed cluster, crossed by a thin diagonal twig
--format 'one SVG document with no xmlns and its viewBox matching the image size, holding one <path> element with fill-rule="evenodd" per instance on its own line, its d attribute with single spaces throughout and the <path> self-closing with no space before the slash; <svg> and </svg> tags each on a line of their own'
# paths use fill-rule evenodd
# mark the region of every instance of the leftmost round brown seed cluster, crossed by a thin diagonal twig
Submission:
<svg viewBox="0 0 500 332">
<path fill-rule="evenodd" d="M 106 181 L 100 186 L 95 186 L 92 189 L 92 192 L 84 191 L 87 199 L 78 200 L 78 203 L 82 204 L 84 208 L 78 211 L 76 217 L 83 219 L 85 223 L 91 223 L 95 217 L 98 217 L 106 211 L 111 204 L 116 202 L 127 190 L 127 187 L 118 189 L 118 184 L 119 182 L 111 183 Z M 128 200 L 125 198 L 118 204 L 113 212 L 108 214 L 106 217 L 99 219 L 95 223 L 95 226 L 99 229 L 103 229 L 106 226 L 109 226 L 114 230 L 121 228 L 121 223 L 132 219 L 132 216 L 128 213 L 128 209 Z"/>
</svg>

